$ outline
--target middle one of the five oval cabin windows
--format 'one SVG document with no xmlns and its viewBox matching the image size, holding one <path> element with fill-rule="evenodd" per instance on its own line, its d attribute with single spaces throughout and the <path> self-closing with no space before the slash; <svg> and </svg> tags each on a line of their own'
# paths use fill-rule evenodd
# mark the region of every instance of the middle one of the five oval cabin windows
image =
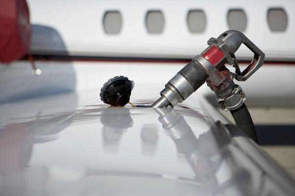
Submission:
<svg viewBox="0 0 295 196">
<path fill-rule="evenodd" d="M 187 25 L 191 33 L 202 33 L 206 27 L 206 16 L 203 10 L 190 10 L 187 14 Z"/>
</svg>

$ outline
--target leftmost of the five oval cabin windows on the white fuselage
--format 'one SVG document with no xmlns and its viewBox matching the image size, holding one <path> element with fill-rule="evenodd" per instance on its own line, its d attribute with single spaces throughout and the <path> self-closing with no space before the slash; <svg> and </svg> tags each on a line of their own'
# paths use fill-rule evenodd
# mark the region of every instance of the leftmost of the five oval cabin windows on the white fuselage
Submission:
<svg viewBox="0 0 295 196">
<path fill-rule="evenodd" d="M 122 27 L 122 17 L 118 11 L 107 11 L 103 17 L 103 27 L 107 34 L 118 34 Z"/>
</svg>

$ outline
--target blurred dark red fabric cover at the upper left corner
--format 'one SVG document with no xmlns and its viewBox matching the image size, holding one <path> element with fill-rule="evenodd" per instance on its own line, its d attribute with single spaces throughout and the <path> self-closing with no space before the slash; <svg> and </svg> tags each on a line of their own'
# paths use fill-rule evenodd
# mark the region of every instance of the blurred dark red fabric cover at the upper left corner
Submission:
<svg viewBox="0 0 295 196">
<path fill-rule="evenodd" d="M 23 57 L 30 42 L 29 8 L 26 0 L 0 0 L 0 62 Z"/>
</svg>

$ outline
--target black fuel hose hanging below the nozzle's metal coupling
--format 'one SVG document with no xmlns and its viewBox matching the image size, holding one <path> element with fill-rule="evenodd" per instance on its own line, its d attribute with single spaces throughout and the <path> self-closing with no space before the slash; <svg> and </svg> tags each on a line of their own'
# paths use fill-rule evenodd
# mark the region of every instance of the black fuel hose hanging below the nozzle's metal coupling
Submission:
<svg viewBox="0 0 295 196">
<path fill-rule="evenodd" d="M 236 126 L 257 143 L 255 126 L 246 105 L 243 103 L 238 109 L 231 110 L 231 113 L 235 119 Z"/>
</svg>

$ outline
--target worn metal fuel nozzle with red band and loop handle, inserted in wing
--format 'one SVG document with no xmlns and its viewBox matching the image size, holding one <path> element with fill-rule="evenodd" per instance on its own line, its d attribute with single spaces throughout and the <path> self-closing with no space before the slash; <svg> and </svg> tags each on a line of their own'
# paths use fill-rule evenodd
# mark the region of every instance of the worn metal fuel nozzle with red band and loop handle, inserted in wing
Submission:
<svg viewBox="0 0 295 196">
<path fill-rule="evenodd" d="M 182 68 L 160 92 L 161 98 L 155 101 L 152 108 L 166 108 L 169 105 L 175 106 L 182 102 L 200 88 L 205 81 L 208 86 L 220 98 L 223 109 L 234 110 L 243 104 L 245 97 L 241 101 L 235 100 L 238 104 L 233 107 L 227 98 L 233 96 L 236 86 L 233 79 L 245 81 L 256 72 L 264 62 L 265 54 L 255 46 L 243 33 L 236 30 L 228 30 L 222 33 L 217 39 L 210 38 L 207 41 L 209 47 L 201 54 L 197 55 L 190 63 Z M 240 71 L 236 61 L 235 52 L 244 44 L 254 52 L 252 62 L 244 71 Z M 224 65 L 233 65 L 236 73 L 231 73 Z M 235 96 L 236 98 L 236 96 Z M 234 99 L 233 99 L 234 100 Z"/>
</svg>

